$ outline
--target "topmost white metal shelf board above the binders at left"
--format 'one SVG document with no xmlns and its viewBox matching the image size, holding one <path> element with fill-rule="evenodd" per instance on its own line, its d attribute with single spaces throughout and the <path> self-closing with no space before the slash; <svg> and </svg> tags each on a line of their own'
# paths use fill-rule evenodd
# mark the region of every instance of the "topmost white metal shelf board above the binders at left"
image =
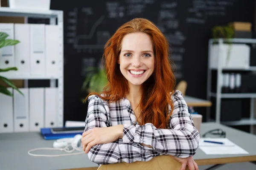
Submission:
<svg viewBox="0 0 256 170">
<path fill-rule="evenodd" d="M 15 17 L 37 17 L 37 18 L 50 18 L 58 17 L 59 13 L 62 11 L 58 10 L 32 10 L 32 9 L 15 9 L 9 7 L 0 7 L 0 16 L 15 16 Z"/>
</svg>

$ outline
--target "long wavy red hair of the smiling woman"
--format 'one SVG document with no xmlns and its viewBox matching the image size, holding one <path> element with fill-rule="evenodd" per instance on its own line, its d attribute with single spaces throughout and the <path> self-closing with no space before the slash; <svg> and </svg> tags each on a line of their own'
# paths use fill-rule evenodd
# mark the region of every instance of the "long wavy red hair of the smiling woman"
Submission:
<svg viewBox="0 0 256 170">
<path fill-rule="evenodd" d="M 120 71 L 118 59 L 123 37 L 134 32 L 143 32 L 151 36 L 155 55 L 154 72 L 142 85 L 143 94 L 139 104 L 140 121 L 138 123 L 140 125 L 152 123 L 157 128 L 167 128 L 174 107 L 171 96 L 174 93 L 176 79 L 169 58 L 169 43 L 162 32 L 149 20 L 135 18 L 120 26 L 108 40 L 104 48 L 102 64 L 106 69 L 109 82 L 101 93 L 104 95 L 93 92 L 88 96 L 96 94 L 103 100 L 116 102 L 123 99 L 129 92 L 128 80 Z"/>
</svg>

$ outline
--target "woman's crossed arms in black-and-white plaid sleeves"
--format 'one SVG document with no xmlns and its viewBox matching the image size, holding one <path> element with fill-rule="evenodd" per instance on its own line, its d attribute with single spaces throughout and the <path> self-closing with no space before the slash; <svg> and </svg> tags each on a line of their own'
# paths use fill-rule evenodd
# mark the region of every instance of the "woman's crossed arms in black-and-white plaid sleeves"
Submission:
<svg viewBox="0 0 256 170">
<path fill-rule="evenodd" d="M 193 156 L 200 134 L 196 130 L 186 102 L 180 93 L 173 99 L 174 111 L 170 129 L 157 129 L 153 124 L 111 126 L 102 99 L 88 98 L 88 113 L 84 136 L 96 140 L 87 142 L 88 157 L 98 164 L 148 161 L 155 156 L 171 155 L 179 158 Z M 105 128 L 95 128 L 105 127 Z"/>
</svg>

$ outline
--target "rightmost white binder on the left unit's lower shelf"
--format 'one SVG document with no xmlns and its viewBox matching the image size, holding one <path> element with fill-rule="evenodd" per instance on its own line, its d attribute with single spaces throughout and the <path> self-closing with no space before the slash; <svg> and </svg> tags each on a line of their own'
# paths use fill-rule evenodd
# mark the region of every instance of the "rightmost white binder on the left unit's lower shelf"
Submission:
<svg viewBox="0 0 256 170">
<path fill-rule="evenodd" d="M 45 88 L 45 127 L 57 127 L 58 88 Z"/>
</svg>

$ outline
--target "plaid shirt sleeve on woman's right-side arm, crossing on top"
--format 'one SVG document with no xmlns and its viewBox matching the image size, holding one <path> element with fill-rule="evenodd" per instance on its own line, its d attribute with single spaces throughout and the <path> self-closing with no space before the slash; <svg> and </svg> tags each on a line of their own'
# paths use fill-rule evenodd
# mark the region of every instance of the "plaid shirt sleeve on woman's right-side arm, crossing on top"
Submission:
<svg viewBox="0 0 256 170">
<path fill-rule="evenodd" d="M 169 129 L 157 129 L 153 124 L 124 125 L 123 142 L 151 145 L 161 155 L 180 158 L 193 156 L 198 148 L 200 134 L 180 91 L 172 96 L 174 110 Z"/>
</svg>

